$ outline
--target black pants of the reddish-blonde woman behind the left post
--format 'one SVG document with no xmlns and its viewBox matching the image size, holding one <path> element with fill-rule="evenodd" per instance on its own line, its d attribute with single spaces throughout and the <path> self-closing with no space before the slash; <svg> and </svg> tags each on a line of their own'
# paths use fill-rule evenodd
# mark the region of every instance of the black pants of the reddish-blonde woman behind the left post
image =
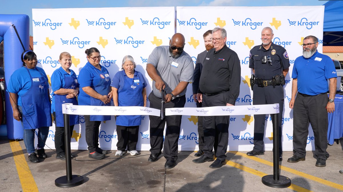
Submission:
<svg viewBox="0 0 343 192">
<path fill-rule="evenodd" d="M 57 127 L 56 126 L 56 113 L 54 112 L 54 119 L 55 119 L 55 149 L 57 155 L 65 155 L 66 154 L 66 146 L 64 145 L 64 127 Z M 70 138 L 73 135 L 74 125 L 70 125 Z"/>
</svg>

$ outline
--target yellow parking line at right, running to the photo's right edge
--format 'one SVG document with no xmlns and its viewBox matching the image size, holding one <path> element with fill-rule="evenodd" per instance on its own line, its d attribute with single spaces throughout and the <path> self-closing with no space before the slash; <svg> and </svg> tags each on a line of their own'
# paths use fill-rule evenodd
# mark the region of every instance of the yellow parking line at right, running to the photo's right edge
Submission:
<svg viewBox="0 0 343 192">
<path fill-rule="evenodd" d="M 233 154 L 237 154 L 237 155 L 240 155 L 240 156 L 243 156 L 243 157 L 246 157 L 248 159 L 251 159 L 251 160 L 254 160 L 254 161 L 257 161 L 257 162 L 269 165 L 269 166 L 273 166 L 273 162 L 269 162 L 269 161 L 260 159 L 260 158 L 255 157 L 255 156 L 248 156 L 245 153 L 241 153 L 241 152 L 238 152 L 238 151 L 228 151 L 228 152 L 229 153 L 233 153 Z M 289 173 L 293 173 L 295 175 L 298 175 L 298 176 L 301 176 L 301 177 L 304 177 L 304 178 L 307 178 L 307 179 L 311 179 L 313 181 L 322 183 L 324 185 L 327 185 L 327 186 L 330 186 L 330 187 L 333 187 L 333 188 L 336 188 L 336 189 L 339 189 L 339 190 L 343 190 L 343 186 L 340 185 L 340 184 L 337 184 L 337 183 L 334 183 L 334 182 L 331 182 L 331 181 L 327 181 L 327 180 L 324 180 L 324 179 L 321 179 L 321 178 L 318 178 L 318 177 L 315 177 L 315 176 L 312 176 L 312 175 L 309 175 L 309 174 L 306 174 L 306 173 L 303 173 L 303 172 L 299 172 L 299 171 L 297 171 L 295 169 L 288 168 L 288 167 L 285 167 L 285 166 L 282 166 L 282 165 L 280 165 L 279 167 L 282 170 L 285 170 L 285 171 L 287 171 Z"/>
</svg>

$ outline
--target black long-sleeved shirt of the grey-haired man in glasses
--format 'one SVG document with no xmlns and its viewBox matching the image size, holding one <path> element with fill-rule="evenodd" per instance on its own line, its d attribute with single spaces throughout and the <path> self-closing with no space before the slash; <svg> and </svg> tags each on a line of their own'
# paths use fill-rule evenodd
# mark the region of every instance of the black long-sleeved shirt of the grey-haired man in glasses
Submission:
<svg viewBox="0 0 343 192">
<path fill-rule="evenodd" d="M 202 93 L 229 91 L 230 104 L 234 104 L 239 95 L 240 62 L 236 52 L 226 45 L 219 50 L 207 52 L 201 71 L 199 88 Z"/>
</svg>

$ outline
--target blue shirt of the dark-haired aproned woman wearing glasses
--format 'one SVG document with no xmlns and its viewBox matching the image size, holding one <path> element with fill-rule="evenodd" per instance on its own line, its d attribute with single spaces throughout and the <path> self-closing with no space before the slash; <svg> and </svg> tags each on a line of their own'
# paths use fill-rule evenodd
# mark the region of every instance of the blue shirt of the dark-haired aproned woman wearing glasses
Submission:
<svg viewBox="0 0 343 192">
<path fill-rule="evenodd" d="M 99 64 L 100 65 L 100 64 Z M 108 74 L 108 71 L 105 67 L 101 66 L 101 72 L 95 71 L 98 70 L 95 68 L 92 64 L 89 62 L 86 63 L 86 65 L 80 70 L 78 81 L 80 83 L 80 93 L 78 96 L 79 105 L 91 105 L 91 96 L 89 96 L 87 93 L 85 93 L 82 90 L 82 87 L 94 87 L 100 82 L 100 76 L 99 73 Z"/>
</svg>

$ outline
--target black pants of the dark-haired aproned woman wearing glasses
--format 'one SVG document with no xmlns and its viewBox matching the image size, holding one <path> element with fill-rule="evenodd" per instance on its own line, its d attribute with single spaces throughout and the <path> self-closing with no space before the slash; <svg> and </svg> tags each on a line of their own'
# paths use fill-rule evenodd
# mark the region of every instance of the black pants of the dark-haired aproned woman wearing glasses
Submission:
<svg viewBox="0 0 343 192">
<path fill-rule="evenodd" d="M 85 117 L 86 143 L 89 152 L 92 153 L 99 147 L 99 127 L 101 121 L 91 121 L 90 115 L 83 116 Z"/>
</svg>

